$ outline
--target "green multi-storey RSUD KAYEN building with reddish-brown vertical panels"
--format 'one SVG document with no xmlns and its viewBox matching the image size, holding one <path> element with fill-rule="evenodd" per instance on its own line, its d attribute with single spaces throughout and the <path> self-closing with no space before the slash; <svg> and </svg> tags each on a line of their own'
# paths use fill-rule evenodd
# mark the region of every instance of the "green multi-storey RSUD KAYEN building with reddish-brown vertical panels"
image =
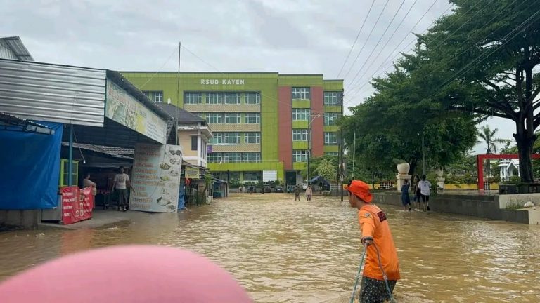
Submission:
<svg viewBox="0 0 540 303">
<path fill-rule="evenodd" d="M 295 184 L 309 151 L 338 154 L 342 80 L 275 72 L 122 74 L 155 102 L 207 120 L 214 133 L 207 166 L 221 179 Z"/>
</svg>

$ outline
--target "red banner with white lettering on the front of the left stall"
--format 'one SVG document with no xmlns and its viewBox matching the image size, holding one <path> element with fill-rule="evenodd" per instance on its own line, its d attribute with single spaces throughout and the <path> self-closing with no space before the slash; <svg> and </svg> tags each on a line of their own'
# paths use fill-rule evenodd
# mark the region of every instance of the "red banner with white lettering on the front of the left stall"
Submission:
<svg viewBox="0 0 540 303">
<path fill-rule="evenodd" d="M 72 224 L 92 217 L 92 188 L 62 187 L 62 224 Z"/>
</svg>

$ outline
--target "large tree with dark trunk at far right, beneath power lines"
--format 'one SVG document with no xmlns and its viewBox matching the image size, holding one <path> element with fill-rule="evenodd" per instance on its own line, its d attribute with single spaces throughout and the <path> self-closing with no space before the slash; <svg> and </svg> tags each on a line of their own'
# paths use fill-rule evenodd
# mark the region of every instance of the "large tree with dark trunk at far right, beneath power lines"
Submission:
<svg viewBox="0 0 540 303">
<path fill-rule="evenodd" d="M 532 182 L 540 126 L 540 11 L 537 0 L 451 0 L 454 13 L 419 36 L 416 76 L 430 100 L 515 123 L 520 175 Z M 410 60 L 410 59 L 409 59 Z"/>
</svg>

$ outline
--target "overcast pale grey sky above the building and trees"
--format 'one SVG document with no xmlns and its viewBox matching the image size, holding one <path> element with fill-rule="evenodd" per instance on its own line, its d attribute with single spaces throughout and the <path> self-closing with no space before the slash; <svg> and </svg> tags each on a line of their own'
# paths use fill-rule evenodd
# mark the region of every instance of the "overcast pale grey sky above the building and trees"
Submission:
<svg viewBox="0 0 540 303">
<path fill-rule="evenodd" d="M 372 1 L 0 0 L 0 35 L 20 36 L 37 61 L 120 71 L 176 71 L 181 41 L 182 71 L 339 76 L 349 107 L 373 92 L 387 58 L 411 48 L 411 31 L 451 13 L 446 0 L 375 0 L 366 19 Z M 489 124 L 503 138 L 515 128 Z"/>
</svg>

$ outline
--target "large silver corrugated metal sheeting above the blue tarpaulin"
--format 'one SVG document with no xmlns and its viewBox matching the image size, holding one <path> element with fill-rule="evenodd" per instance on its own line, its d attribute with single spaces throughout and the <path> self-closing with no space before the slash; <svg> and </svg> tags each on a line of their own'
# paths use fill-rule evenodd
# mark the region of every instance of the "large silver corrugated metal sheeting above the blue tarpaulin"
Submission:
<svg viewBox="0 0 540 303">
<path fill-rule="evenodd" d="M 0 59 L 0 112 L 103 127 L 105 70 Z"/>
</svg>

